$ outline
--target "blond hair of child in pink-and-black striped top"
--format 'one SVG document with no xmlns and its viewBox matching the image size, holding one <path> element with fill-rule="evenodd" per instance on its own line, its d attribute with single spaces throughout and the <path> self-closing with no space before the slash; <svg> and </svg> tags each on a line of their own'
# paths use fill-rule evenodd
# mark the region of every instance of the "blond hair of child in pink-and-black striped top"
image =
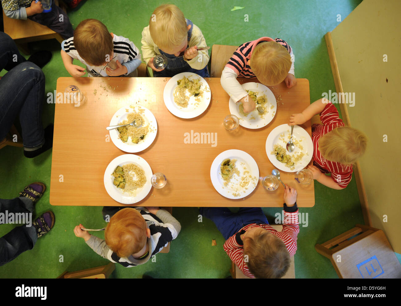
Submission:
<svg viewBox="0 0 401 306">
<path fill-rule="evenodd" d="M 291 56 L 287 49 L 275 41 L 256 45 L 251 55 L 251 69 L 264 85 L 277 85 L 284 81 L 291 68 Z"/>
</svg>

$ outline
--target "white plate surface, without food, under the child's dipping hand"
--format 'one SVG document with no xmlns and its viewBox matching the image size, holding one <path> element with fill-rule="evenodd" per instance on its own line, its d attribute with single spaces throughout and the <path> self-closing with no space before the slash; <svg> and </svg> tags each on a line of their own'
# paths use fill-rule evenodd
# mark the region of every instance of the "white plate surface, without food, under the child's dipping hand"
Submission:
<svg viewBox="0 0 401 306">
<path fill-rule="evenodd" d="M 245 90 L 251 90 L 253 92 L 257 92 L 257 96 L 265 94 L 267 97 L 267 113 L 263 115 L 263 118 L 259 116 L 259 112 L 255 108 L 254 111 L 251 111 L 248 116 L 243 117 L 239 114 L 239 105 L 242 103 L 235 103 L 233 99 L 230 98 L 229 101 L 229 109 L 230 113 L 237 116 L 239 119 L 239 125 L 244 128 L 249 129 L 260 129 L 264 126 L 267 126 L 273 120 L 276 112 L 277 112 L 277 103 L 274 97 L 273 92 L 267 88 L 265 85 L 261 83 L 245 83 L 242 84 L 242 88 Z M 273 108 L 270 108 L 273 105 Z M 253 117 L 253 119 L 251 119 Z"/>
</svg>

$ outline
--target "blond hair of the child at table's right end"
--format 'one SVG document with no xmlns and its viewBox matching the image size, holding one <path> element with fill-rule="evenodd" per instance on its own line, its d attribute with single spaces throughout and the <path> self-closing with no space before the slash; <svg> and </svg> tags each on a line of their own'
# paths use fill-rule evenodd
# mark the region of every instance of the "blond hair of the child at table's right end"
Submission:
<svg viewBox="0 0 401 306">
<path fill-rule="evenodd" d="M 365 153 L 367 142 L 368 138 L 360 130 L 341 126 L 319 139 L 319 151 L 332 162 L 354 164 Z"/>
</svg>

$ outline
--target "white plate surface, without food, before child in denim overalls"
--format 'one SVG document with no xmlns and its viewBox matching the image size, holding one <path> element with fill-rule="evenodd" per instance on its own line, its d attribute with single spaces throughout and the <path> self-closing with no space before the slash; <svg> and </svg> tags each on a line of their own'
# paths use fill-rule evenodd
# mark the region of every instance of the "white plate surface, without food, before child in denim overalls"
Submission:
<svg viewBox="0 0 401 306">
<path fill-rule="evenodd" d="M 203 90 L 203 96 L 201 97 L 201 102 L 199 103 L 199 105 L 195 105 L 196 101 L 194 96 L 191 96 L 189 98 L 187 107 L 181 107 L 174 102 L 174 95 L 173 95 L 174 89 L 178 86 L 177 81 L 182 79 L 183 77 L 192 80 L 199 79 L 200 82 L 202 83 L 201 89 Z M 188 91 L 187 95 L 189 96 Z M 166 104 L 166 107 L 170 111 L 170 113 L 179 118 L 189 119 L 201 115 L 207 109 L 211 100 L 211 92 L 209 84 L 205 81 L 203 77 L 197 75 L 196 73 L 183 72 L 174 75 L 174 77 L 172 77 L 167 82 L 166 86 L 164 87 L 163 99 L 164 99 L 164 104 Z"/>
</svg>

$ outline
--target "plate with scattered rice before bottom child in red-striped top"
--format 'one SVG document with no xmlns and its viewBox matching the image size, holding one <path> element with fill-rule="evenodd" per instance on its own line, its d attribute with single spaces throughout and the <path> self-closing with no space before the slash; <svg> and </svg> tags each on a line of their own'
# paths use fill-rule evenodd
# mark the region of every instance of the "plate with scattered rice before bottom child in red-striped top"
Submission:
<svg viewBox="0 0 401 306">
<path fill-rule="evenodd" d="M 250 195 L 259 180 L 259 168 L 251 155 L 241 150 L 221 152 L 210 168 L 213 187 L 228 199 Z"/>
</svg>

